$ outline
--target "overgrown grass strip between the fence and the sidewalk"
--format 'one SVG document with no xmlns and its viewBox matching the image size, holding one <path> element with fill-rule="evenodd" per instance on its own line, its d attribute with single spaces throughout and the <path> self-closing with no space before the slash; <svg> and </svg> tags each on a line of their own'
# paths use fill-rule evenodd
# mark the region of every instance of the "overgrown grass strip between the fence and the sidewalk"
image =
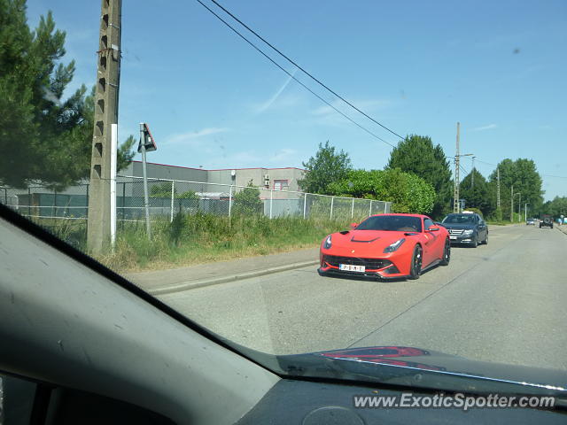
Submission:
<svg viewBox="0 0 567 425">
<path fill-rule="evenodd" d="M 293 217 L 177 215 L 172 223 L 154 221 L 151 241 L 143 222 L 120 224 L 114 252 L 98 259 L 119 271 L 183 267 L 315 247 L 347 224 Z"/>
</svg>

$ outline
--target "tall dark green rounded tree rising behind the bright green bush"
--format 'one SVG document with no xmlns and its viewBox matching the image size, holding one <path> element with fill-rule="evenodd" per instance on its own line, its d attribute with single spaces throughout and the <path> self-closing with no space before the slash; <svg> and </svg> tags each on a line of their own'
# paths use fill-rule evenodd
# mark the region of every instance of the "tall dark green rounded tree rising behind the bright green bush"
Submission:
<svg viewBox="0 0 567 425">
<path fill-rule="evenodd" d="M 447 213 L 453 197 L 451 168 L 443 148 L 439 144 L 433 146 L 429 136 L 408 135 L 392 150 L 386 167 L 400 168 L 430 183 L 435 190 L 431 216 L 439 218 Z"/>
</svg>

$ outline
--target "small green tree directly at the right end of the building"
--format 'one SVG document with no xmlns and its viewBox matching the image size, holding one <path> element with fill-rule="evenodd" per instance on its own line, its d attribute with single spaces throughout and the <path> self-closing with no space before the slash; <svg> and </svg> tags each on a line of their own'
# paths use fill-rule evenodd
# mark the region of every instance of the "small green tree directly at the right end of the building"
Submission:
<svg viewBox="0 0 567 425">
<path fill-rule="evenodd" d="M 299 181 L 299 187 L 309 193 L 330 195 L 329 185 L 346 177 L 352 169 L 351 159 L 345 151 L 336 151 L 329 141 L 319 143 L 315 157 L 303 163 L 306 175 Z"/>
</svg>

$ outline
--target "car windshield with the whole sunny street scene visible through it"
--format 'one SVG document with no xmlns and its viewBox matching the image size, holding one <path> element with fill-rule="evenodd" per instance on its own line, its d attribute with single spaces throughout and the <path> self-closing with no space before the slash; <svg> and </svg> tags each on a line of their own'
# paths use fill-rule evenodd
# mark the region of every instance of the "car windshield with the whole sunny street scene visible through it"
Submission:
<svg viewBox="0 0 567 425">
<path fill-rule="evenodd" d="M 567 2 L 73 4 L 0 1 L 0 204 L 248 350 L 567 370 Z"/>
</svg>

